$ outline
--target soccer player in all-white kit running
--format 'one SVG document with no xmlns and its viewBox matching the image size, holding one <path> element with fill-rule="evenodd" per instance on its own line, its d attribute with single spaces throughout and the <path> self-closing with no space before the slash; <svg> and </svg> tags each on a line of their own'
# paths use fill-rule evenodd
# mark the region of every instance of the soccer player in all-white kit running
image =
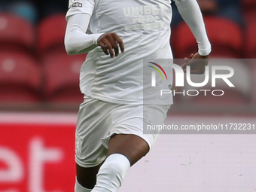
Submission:
<svg viewBox="0 0 256 192">
<path fill-rule="evenodd" d="M 211 52 L 196 0 L 175 0 L 197 39 L 199 51 L 185 59 L 203 73 Z M 75 192 L 117 191 L 130 166 L 150 151 L 156 134 L 144 123 L 163 124 L 167 99 L 143 102 L 143 59 L 172 59 L 170 0 L 70 0 L 66 51 L 87 53 L 81 67 L 84 102 L 75 133 Z M 87 32 L 87 33 L 86 33 Z M 200 65 L 196 59 L 203 59 Z"/>
</svg>

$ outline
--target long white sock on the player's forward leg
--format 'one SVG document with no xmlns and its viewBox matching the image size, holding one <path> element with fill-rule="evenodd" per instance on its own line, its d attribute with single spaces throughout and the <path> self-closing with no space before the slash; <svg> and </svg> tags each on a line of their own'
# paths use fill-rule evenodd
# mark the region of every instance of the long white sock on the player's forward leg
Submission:
<svg viewBox="0 0 256 192">
<path fill-rule="evenodd" d="M 91 192 L 116 192 L 129 168 L 130 161 L 123 154 L 111 154 L 100 167 Z"/>
</svg>

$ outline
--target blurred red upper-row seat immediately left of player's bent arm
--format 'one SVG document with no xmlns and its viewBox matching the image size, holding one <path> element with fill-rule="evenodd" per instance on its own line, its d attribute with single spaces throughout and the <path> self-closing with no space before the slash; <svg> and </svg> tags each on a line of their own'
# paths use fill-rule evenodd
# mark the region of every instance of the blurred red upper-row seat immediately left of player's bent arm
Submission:
<svg viewBox="0 0 256 192">
<path fill-rule="evenodd" d="M 38 52 L 64 50 L 65 31 L 65 14 L 55 14 L 42 20 L 38 26 Z"/>
</svg>

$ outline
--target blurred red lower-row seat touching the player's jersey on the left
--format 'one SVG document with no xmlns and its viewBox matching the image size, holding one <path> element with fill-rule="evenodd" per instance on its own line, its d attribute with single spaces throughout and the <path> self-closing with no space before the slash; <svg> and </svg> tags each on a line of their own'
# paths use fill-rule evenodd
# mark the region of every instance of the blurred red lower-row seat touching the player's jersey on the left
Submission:
<svg viewBox="0 0 256 192">
<path fill-rule="evenodd" d="M 78 104 L 83 101 L 79 89 L 79 72 L 85 55 L 69 56 L 66 52 L 49 53 L 42 58 L 47 101 Z"/>
</svg>

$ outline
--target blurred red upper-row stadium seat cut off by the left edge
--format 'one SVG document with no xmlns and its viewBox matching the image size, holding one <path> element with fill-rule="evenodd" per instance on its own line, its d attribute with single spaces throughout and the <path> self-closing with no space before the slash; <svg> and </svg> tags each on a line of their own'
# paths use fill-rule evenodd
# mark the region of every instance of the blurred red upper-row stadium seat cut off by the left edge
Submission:
<svg viewBox="0 0 256 192">
<path fill-rule="evenodd" d="M 35 45 L 35 31 L 29 21 L 13 14 L 0 13 L 0 49 L 32 49 Z"/>
</svg>

